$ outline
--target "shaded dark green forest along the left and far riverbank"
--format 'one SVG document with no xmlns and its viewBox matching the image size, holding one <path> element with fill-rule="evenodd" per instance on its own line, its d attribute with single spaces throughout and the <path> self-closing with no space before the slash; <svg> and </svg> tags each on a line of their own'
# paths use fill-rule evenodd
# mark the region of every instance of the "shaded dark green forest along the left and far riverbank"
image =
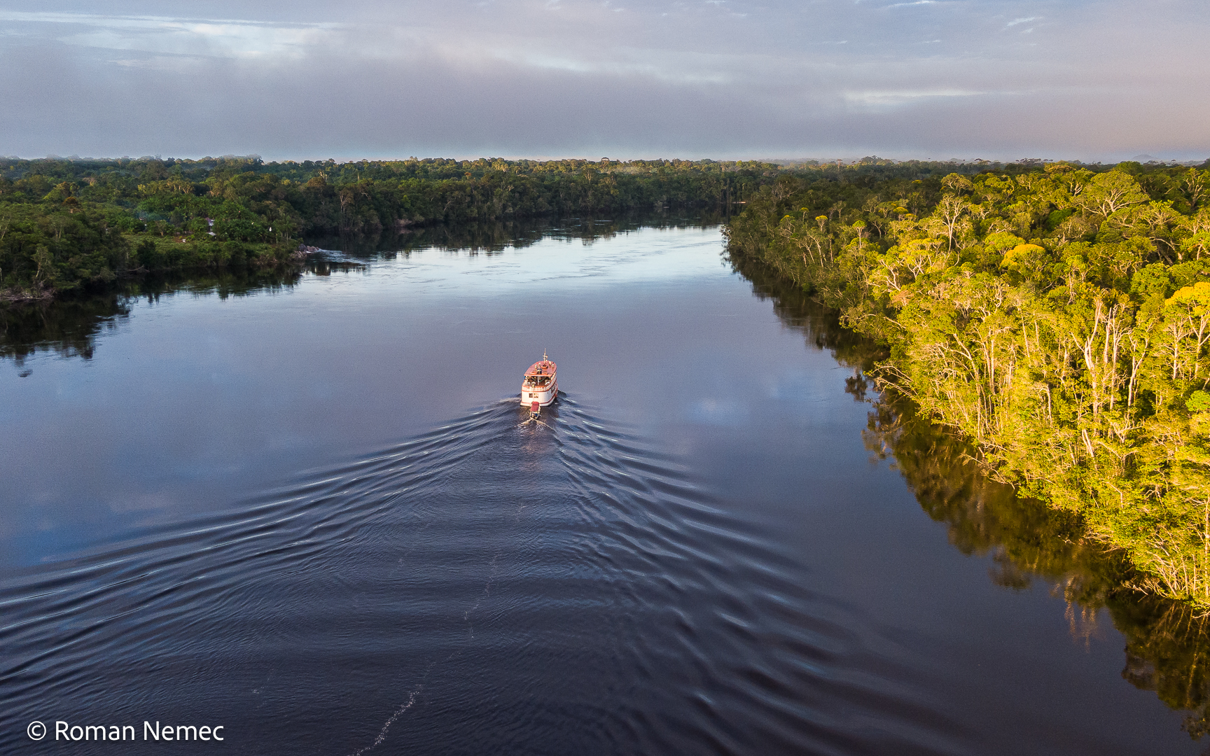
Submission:
<svg viewBox="0 0 1210 756">
<path fill-rule="evenodd" d="M 843 169 L 710 160 L 0 158 L 0 298 L 46 298 L 136 271 L 276 265 L 304 236 L 724 210 L 785 173 L 916 179 L 984 167 L 876 157 Z"/>
</svg>

